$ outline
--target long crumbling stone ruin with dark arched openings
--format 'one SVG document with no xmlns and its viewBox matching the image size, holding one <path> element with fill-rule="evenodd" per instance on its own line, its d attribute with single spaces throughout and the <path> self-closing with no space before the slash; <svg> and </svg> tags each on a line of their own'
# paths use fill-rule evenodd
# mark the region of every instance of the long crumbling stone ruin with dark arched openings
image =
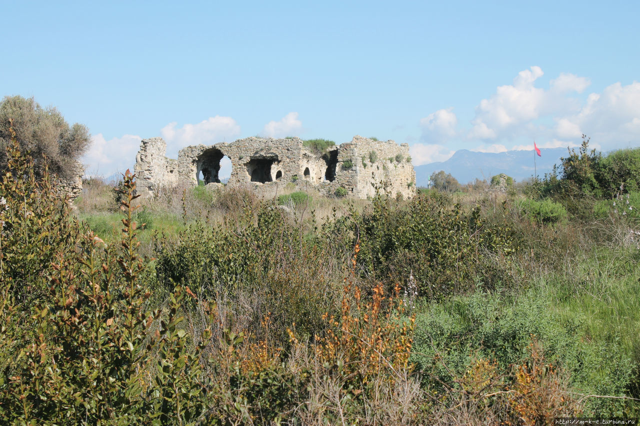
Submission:
<svg viewBox="0 0 640 426">
<path fill-rule="evenodd" d="M 355 136 L 351 142 L 316 152 L 300 138 L 246 138 L 232 143 L 188 146 L 178 159 L 166 156 L 162 138 L 143 139 L 134 171 L 138 193 L 153 196 L 164 187 L 223 185 L 220 162 L 232 164 L 228 187 L 251 187 L 261 196 L 281 194 L 285 187 L 324 195 L 374 196 L 376 187 L 390 196 L 415 194 L 415 171 L 406 143 Z"/>
</svg>

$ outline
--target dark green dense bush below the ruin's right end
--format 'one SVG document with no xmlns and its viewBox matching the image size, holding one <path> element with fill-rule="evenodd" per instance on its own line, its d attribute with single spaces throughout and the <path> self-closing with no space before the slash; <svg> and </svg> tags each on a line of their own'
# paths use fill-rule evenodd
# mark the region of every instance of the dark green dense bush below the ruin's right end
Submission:
<svg viewBox="0 0 640 426">
<path fill-rule="evenodd" d="M 415 280 L 420 296 L 440 299 L 508 279 L 500 264 L 515 251 L 508 226 L 486 223 L 479 207 L 450 209 L 440 196 L 417 196 L 394 207 L 377 196 L 372 209 L 356 216 L 362 241 L 360 271 L 371 280 Z"/>
</svg>

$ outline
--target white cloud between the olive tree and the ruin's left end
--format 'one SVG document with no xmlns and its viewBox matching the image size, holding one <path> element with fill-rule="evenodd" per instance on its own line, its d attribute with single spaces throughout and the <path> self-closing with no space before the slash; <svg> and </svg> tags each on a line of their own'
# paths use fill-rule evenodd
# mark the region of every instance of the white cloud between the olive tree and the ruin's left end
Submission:
<svg viewBox="0 0 640 426">
<path fill-rule="evenodd" d="M 106 140 L 102 133 L 92 136 L 92 145 L 81 161 L 87 176 L 109 177 L 114 173 L 133 170 L 136 152 L 140 149 L 140 136 L 125 134 L 122 138 Z"/>
</svg>

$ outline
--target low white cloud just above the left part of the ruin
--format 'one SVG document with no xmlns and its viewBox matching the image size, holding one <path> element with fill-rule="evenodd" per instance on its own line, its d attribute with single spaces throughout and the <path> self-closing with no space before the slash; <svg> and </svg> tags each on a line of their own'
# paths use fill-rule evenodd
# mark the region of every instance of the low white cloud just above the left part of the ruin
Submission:
<svg viewBox="0 0 640 426">
<path fill-rule="evenodd" d="M 222 141 L 232 141 L 240 135 L 240 126 L 231 117 L 209 117 L 197 124 L 185 124 L 177 128 L 172 122 L 164 126 L 160 133 L 167 145 L 167 155 L 175 157 L 180 148 L 189 145 L 212 145 Z"/>
</svg>

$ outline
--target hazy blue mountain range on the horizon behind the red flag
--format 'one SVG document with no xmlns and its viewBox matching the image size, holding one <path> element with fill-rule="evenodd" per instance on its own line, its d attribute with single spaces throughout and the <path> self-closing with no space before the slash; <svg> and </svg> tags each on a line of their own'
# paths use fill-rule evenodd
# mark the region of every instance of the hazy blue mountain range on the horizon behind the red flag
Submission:
<svg viewBox="0 0 640 426">
<path fill-rule="evenodd" d="M 560 157 L 567 156 L 566 148 L 544 148 L 542 156 L 536 155 L 538 177 L 543 178 L 554 164 L 560 164 Z M 533 177 L 534 151 L 507 151 L 497 154 L 458 150 L 447 161 L 431 162 L 415 167 L 415 185 L 427 186 L 429 176 L 440 170 L 458 179 L 461 184 L 472 182 L 475 178 L 491 180 L 492 176 L 505 173 L 516 181 Z"/>
</svg>

